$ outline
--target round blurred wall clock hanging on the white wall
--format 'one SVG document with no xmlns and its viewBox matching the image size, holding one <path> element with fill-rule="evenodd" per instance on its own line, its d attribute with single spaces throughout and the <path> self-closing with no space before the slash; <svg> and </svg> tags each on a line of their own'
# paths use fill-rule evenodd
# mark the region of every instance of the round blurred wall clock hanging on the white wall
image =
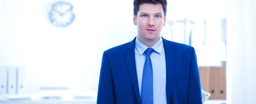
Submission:
<svg viewBox="0 0 256 104">
<path fill-rule="evenodd" d="M 64 1 L 55 3 L 51 11 L 49 11 L 49 19 L 52 24 L 57 27 L 67 27 L 71 25 L 75 19 L 73 6 Z"/>
</svg>

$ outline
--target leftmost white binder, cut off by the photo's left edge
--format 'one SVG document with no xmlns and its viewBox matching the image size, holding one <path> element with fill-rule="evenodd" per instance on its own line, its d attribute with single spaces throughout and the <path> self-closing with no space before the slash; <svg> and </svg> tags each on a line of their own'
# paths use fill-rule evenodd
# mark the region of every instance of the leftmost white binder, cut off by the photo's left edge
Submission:
<svg viewBox="0 0 256 104">
<path fill-rule="evenodd" d="M 0 95 L 6 94 L 7 89 L 7 69 L 0 67 Z"/>
</svg>

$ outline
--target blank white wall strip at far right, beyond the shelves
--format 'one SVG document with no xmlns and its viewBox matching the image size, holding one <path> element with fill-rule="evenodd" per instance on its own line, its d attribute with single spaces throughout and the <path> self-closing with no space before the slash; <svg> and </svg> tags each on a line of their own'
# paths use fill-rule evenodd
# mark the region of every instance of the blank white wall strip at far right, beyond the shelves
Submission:
<svg viewBox="0 0 256 104">
<path fill-rule="evenodd" d="M 227 104 L 256 104 L 256 3 L 230 0 L 227 23 Z"/>
</svg>

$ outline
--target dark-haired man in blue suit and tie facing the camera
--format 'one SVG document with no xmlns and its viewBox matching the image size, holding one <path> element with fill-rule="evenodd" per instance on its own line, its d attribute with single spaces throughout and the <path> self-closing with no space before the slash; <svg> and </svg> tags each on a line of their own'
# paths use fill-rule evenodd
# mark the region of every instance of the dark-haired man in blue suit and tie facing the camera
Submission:
<svg viewBox="0 0 256 104">
<path fill-rule="evenodd" d="M 134 0 L 137 37 L 103 53 L 97 104 L 202 104 L 195 49 L 160 37 L 166 0 Z"/>
</svg>

